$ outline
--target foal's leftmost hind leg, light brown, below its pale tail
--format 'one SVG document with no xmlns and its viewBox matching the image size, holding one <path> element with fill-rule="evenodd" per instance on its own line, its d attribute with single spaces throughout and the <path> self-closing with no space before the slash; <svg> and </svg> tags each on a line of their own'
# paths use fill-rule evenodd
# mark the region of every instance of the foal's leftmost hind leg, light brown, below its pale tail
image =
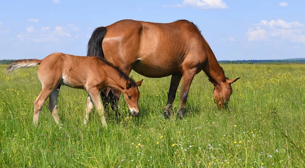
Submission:
<svg viewBox="0 0 305 168">
<path fill-rule="evenodd" d="M 35 100 L 35 102 L 34 102 L 34 119 L 33 119 L 33 122 L 35 124 L 38 124 L 40 110 L 41 110 L 44 102 L 49 97 L 52 90 L 53 90 L 53 88 L 42 87 L 42 90 L 41 90 L 39 96 Z"/>
</svg>

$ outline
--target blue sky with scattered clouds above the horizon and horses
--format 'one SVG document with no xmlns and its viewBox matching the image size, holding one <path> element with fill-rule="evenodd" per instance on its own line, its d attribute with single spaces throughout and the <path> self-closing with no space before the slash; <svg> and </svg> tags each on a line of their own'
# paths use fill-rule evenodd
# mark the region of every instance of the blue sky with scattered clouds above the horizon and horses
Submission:
<svg viewBox="0 0 305 168">
<path fill-rule="evenodd" d="M 305 58 L 305 1 L 2 1 L 0 59 L 85 55 L 99 26 L 121 19 L 193 21 L 218 60 Z"/>
</svg>

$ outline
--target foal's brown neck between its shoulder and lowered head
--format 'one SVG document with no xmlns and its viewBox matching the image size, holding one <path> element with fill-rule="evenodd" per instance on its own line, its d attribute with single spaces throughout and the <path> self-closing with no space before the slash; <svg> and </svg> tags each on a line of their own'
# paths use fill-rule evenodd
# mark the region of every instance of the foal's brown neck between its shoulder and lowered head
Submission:
<svg viewBox="0 0 305 168">
<path fill-rule="evenodd" d="M 109 65 L 105 65 L 104 70 L 107 72 L 107 87 L 123 92 L 128 80 L 121 76 L 115 68 Z"/>
</svg>

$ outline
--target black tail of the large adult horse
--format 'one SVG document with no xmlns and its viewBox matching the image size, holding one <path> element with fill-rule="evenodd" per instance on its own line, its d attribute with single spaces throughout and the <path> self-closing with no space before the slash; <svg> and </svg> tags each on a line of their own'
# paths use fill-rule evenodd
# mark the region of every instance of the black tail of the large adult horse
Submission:
<svg viewBox="0 0 305 168">
<path fill-rule="evenodd" d="M 93 31 L 88 41 L 87 56 L 101 56 L 104 58 L 102 42 L 106 35 L 106 32 L 106 27 L 98 27 Z"/>
</svg>

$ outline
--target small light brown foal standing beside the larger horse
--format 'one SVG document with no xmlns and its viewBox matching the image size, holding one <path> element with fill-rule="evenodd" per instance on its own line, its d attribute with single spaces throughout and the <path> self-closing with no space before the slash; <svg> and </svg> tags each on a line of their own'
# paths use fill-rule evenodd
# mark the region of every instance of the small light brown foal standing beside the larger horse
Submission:
<svg viewBox="0 0 305 168">
<path fill-rule="evenodd" d="M 98 57 L 80 57 L 63 53 L 53 53 L 42 60 L 27 59 L 11 62 L 7 71 L 11 72 L 20 67 L 38 67 L 38 78 L 42 84 L 42 90 L 34 102 L 34 123 L 38 123 L 40 110 L 49 97 L 49 110 L 56 123 L 57 97 L 61 85 L 71 88 L 84 89 L 88 92 L 87 107 L 84 124 L 87 123 L 95 104 L 104 127 L 107 123 L 104 116 L 104 107 L 100 99 L 100 91 L 107 87 L 114 88 L 124 93 L 125 101 L 132 116 L 139 114 L 138 100 L 140 92 L 138 87 L 143 81 L 135 82 L 124 72 L 111 63 Z"/>
</svg>

